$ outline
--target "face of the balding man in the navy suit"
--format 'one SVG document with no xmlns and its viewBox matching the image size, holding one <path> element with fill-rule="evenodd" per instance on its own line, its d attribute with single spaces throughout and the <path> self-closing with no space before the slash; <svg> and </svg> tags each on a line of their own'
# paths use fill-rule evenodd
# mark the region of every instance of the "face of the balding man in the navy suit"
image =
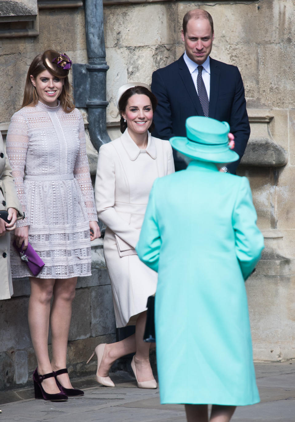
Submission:
<svg viewBox="0 0 295 422">
<path fill-rule="evenodd" d="M 187 31 L 185 35 L 183 30 L 181 31 L 181 38 L 190 60 L 197 65 L 203 65 L 211 53 L 214 40 L 214 32 L 212 34 L 208 19 L 189 19 Z"/>
</svg>

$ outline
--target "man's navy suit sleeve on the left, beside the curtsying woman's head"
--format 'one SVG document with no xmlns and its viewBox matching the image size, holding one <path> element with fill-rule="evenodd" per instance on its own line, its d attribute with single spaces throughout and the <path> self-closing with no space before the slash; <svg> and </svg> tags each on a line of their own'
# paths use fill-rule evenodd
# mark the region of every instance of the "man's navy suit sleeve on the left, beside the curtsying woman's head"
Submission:
<svg viewBox="0 0 295 422">
<path fill-rule="evenodd" d="M 171 106 L 168 92 L 159 70 L 152 74 L 151 89 L 158 100 L 158 105 L 154 112 L 155 129 L 153 136 L 169 140 L 172 136 L 175 136 L 172 126 Z"/>
</svg>

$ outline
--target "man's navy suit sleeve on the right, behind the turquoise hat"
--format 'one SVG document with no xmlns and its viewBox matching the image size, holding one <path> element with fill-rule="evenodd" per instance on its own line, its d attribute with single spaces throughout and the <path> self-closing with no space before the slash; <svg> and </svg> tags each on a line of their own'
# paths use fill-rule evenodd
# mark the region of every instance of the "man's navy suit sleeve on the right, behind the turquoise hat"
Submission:
<svg viewBox="0 0 295 422">
<path fill-rule="evenodd" d="M 230 173 L 235 173 L 241 158 L 244 155 L 247 142 L 250 136 L 250 124 L 246 110 L 245 89 L 241 73 L 238 68 L 236 71 L 235 94 L 230 114 L 230 132 L 235 137 L 234 151 L 239 155 L 239 160 L 227 165 Z"/>
</svg>

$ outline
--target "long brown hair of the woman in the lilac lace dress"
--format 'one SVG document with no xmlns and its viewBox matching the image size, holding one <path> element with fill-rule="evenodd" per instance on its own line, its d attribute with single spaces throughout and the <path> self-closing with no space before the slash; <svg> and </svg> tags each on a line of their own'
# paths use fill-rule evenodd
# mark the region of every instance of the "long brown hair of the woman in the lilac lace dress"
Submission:
<svg viewBox="0 0 295 422">
<path fill-rule="evenodd" d="M 42 60 L 43 53 L 38 54 L 35 59 L 32 61 L 30 68 L 27 73 L 26 84 L 24 87 L 24 99 L 22 100 L 22 107 L 25 106 L 35 106 L 38 103 L 39 97 L 37 94 L 37 90 L 32 84 L 30 75 L 34 76 L 36 79 L 39 73 L 43 72 L 43 70 L 48 70 L 43 65 Z M 49 70 L 48 70 L 49 71 Z M 65 113 L 70 113 L 75 108 L 74 99 L 71 93 L 71 84 L 69 82 L 68 76 L 64 78 L 64 84 L 62 86 L 62 92 L 58 97 L 60 100 L 60 105 L 62 106 Z"/>
</svg>

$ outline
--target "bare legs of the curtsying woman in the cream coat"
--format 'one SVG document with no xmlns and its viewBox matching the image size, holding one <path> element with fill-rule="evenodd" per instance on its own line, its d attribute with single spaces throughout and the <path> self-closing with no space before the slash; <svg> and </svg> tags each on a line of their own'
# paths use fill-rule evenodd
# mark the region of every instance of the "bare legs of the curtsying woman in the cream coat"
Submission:
<svg viewBox="0 0 295 422">
<path fill-rule="evenodd" d="M 138 381 L 149 381 L 153 379 L 152 368 L 149 363 L 150 343 L 143 341 L 143 333 L 146 325 L 146 311 L 139 314 L 136 321 L 135 334 L 116 343 L 106 344 L 103 359 L 98 370 L 99 376 L 108 376 L 111 365 L 119 357 L 134 353 L 136 373 Z"/>
</svg>

